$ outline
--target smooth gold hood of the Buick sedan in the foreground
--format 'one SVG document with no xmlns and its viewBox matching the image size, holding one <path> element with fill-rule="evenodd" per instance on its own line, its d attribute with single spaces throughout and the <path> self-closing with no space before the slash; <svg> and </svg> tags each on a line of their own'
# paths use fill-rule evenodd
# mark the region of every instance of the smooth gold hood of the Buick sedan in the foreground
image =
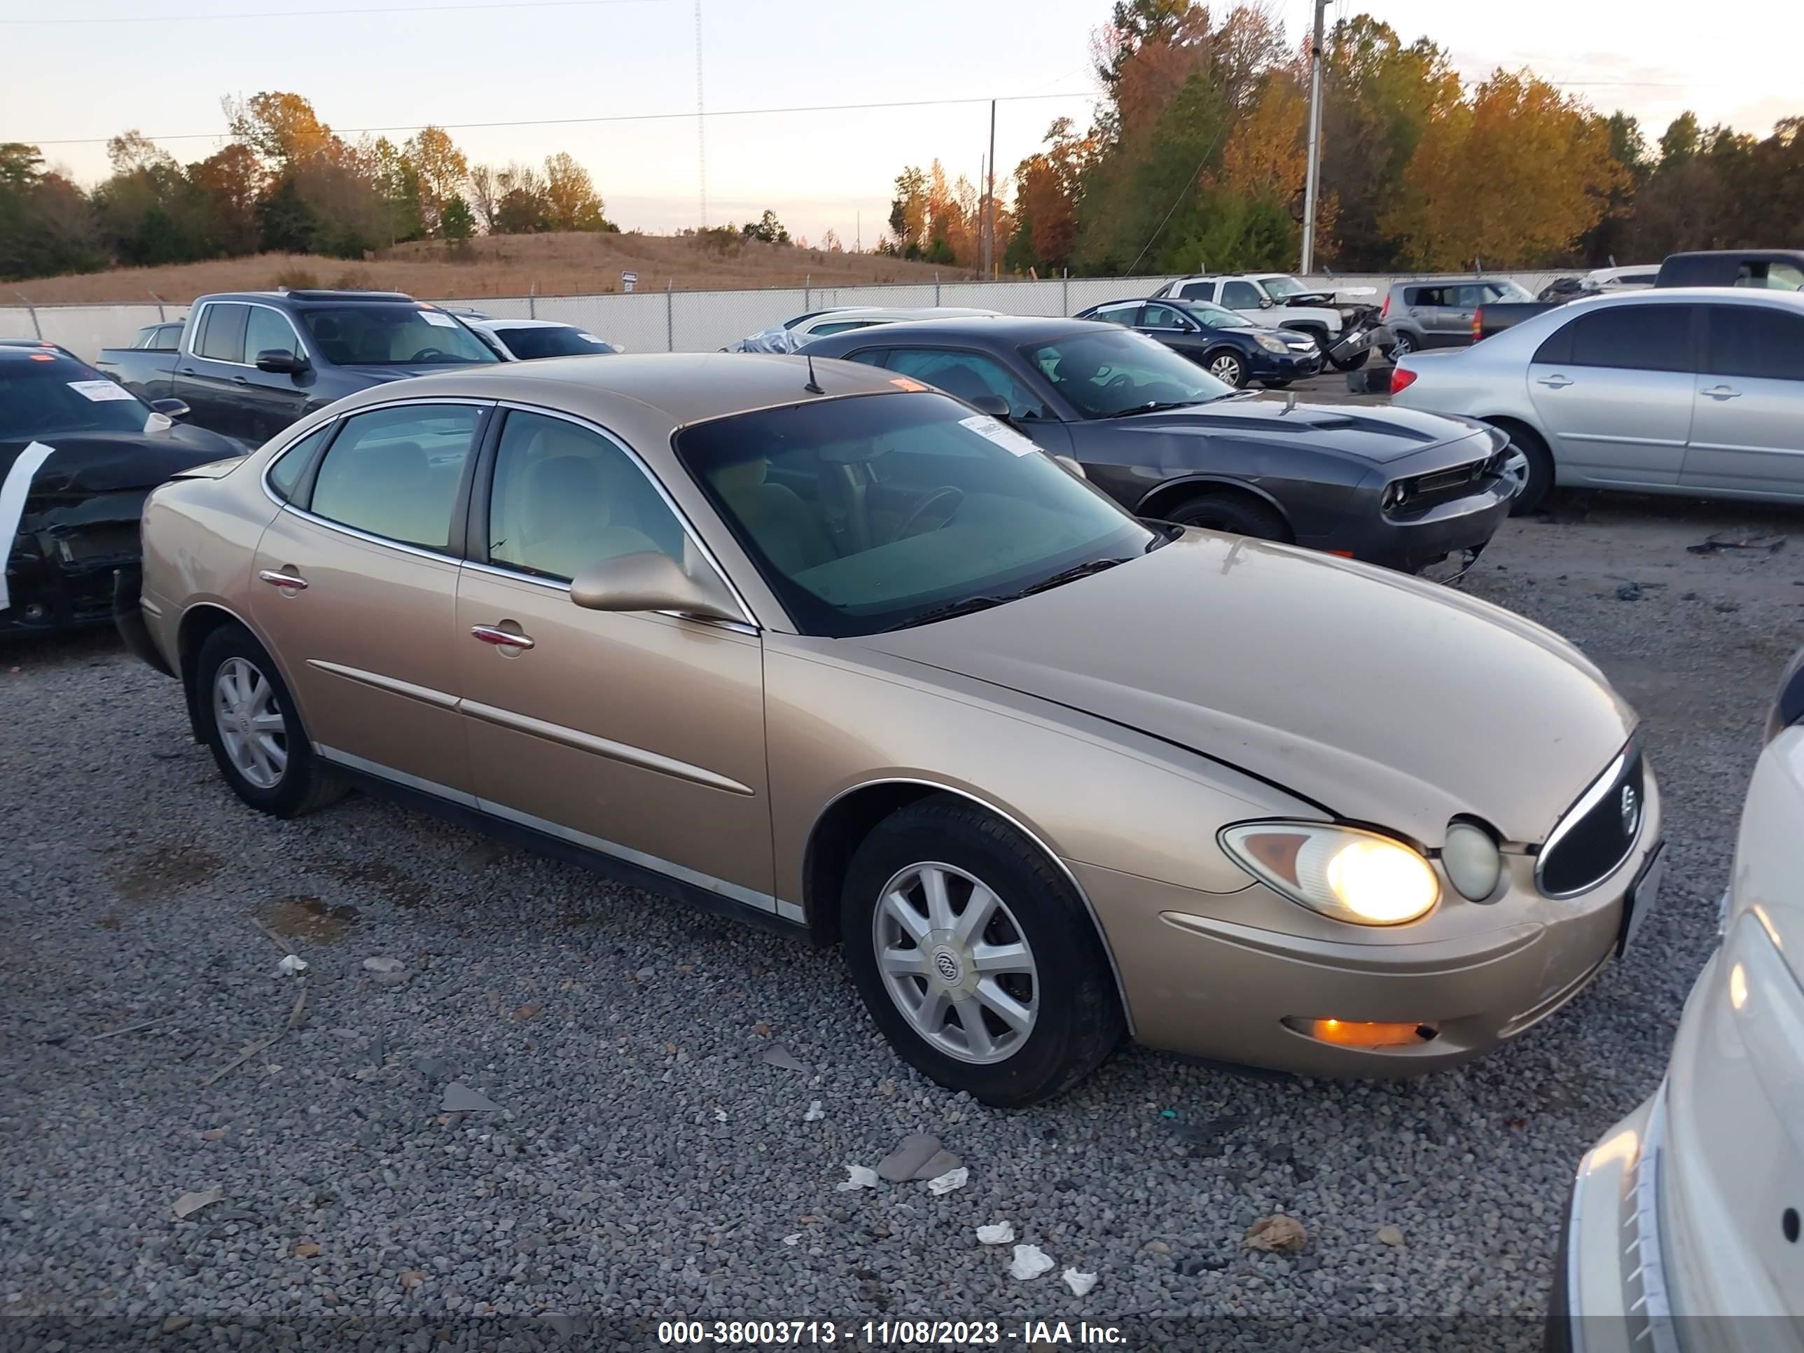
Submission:
<svg viewBox="0 0 1804 1353">
<path fill-rule="evenodd" d="M 1429 846 L 1456 814 L 1542 841 L 1636 722 L 1577 648 L 1514 612 L 1201 530 L 855 642 L 1138 729 Z"/>
</svg>

